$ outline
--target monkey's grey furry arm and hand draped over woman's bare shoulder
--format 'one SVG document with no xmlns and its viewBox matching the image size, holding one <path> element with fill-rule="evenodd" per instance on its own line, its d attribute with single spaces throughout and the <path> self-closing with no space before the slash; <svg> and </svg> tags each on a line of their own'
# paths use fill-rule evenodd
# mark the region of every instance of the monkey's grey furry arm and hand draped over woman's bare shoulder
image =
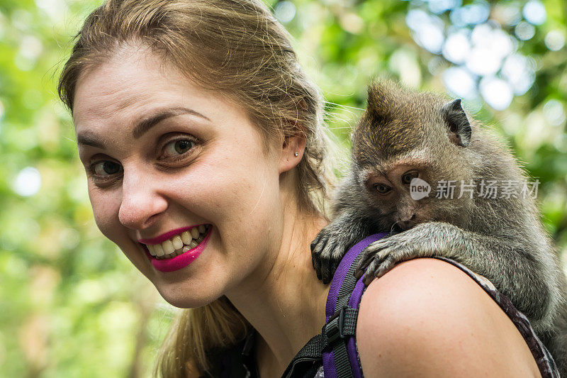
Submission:
<svg viewBox="0 0 567 378">
<path fill-rule="evenodd" d="M 521 233 L 519 233 L 521 235 Z M 534 328 L 546 327 L 558 298 L 554 263 L 539 261 L 551 255 L 526 239 L 510 240 L 462 230 L 449 223 L 421 223 L 403 233 L 377 240 L 366 248 L 357 277 L 368 284 L 397 262 L 414 257 L 448 257 L 489 279 L 522 311 Z"/>
</svg>

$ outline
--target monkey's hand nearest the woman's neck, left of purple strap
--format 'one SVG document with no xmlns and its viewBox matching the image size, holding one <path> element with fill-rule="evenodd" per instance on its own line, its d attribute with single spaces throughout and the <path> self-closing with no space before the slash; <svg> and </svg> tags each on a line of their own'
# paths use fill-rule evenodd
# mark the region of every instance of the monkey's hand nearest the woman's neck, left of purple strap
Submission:
<svg viewBox="0 0 567 378">
<path fill-rule="evenodd" d="M 369 219 L 358 216 L 356 211 L 348 208 L 342 209 L 311 243 L 311 260 L 318 279 L 324 284 L 331 282 L 347 250 L 370 234 Z"/>
</svg>

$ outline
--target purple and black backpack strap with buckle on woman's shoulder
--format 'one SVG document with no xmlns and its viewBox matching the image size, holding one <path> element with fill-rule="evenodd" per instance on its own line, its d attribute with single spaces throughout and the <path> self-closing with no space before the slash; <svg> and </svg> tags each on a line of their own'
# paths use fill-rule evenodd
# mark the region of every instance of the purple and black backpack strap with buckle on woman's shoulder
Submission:
<svg viewBox="0 0 567 378">
<path fill-rule="evenodd" d="M 358 308 L 366 286 L 362 278 L 358 281 L 354 278 L 354 269 L 362 250 L 386 235 L 376 233 L 355 244 L 344 255 L 332 278 L 325 309 L 327 323 L 322 329 L 325 378 L 362 378 L 354 336 Z"/>
</svg>

